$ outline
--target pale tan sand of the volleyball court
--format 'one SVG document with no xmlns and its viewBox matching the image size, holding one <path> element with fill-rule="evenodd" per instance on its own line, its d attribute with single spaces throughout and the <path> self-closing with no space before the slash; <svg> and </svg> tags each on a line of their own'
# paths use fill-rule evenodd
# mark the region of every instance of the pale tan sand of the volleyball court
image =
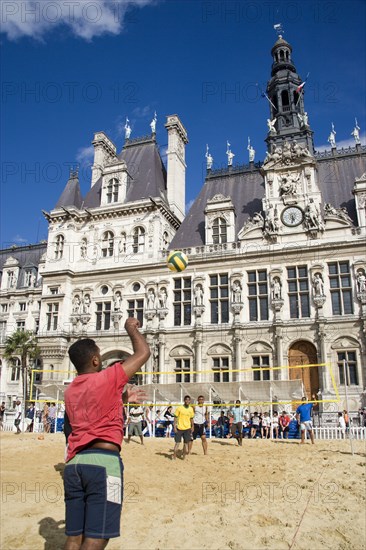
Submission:
<svg viewBox="0 0 366 550">
<path fill-rule="evenodd" d="M 1 433 L 1 550 L 65 542 L 64 439 Z M 124 444 L 122 536 L 110 549 L 366 548 L 365 444 L 213 439 L 171 460 L 172 440 Z"/>
</svg>

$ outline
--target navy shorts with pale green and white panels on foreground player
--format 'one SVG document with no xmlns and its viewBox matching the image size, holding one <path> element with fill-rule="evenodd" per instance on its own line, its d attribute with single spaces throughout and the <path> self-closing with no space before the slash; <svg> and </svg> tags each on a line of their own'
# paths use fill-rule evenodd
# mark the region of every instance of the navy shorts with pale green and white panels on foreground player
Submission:
<svg viewBox="0 0 366 550">
<path fill-rule="evenodd" d="M 64 471 L 67 536 L 119 537 L 123 464 L 118 452 L 81 451 Z"/>
</svg>

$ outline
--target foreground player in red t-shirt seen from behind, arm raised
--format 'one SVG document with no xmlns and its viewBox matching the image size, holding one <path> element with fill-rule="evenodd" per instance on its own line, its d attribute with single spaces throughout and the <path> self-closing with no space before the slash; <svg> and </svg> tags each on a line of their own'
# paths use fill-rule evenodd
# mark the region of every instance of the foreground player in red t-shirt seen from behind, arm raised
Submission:
<svg viewBox="0 0 366 550">
<path fill-rule="evenodd" d="M 69 357 L 78 376 L 65 392 L 66 413 L 72 433 L 64 471 L 65 550 L 102 550 L 119 537 L 123 495 L 122 393 L 129 378 L 150 356 L 137 319 L 127 319 L 125 329 L 134 350 L 124 363 L 102 370 L 100 350 L 94 340 L 78 340 Z"/>
</svg>

